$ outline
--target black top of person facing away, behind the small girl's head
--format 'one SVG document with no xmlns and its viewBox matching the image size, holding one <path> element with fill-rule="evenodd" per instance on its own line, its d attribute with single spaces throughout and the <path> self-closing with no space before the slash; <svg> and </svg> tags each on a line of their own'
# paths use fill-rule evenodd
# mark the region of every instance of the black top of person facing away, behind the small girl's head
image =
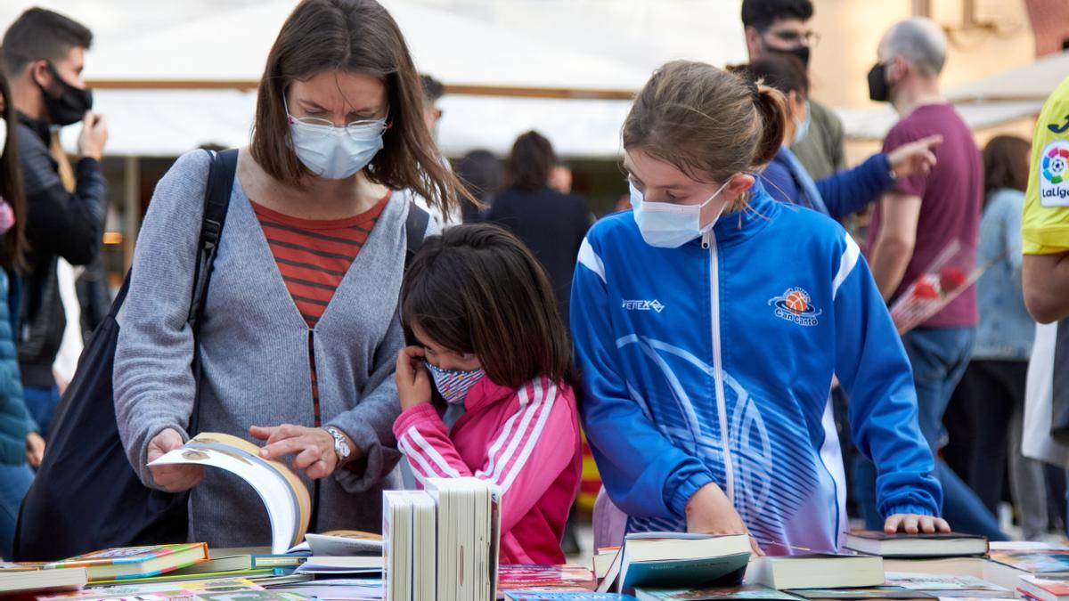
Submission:
<svg viewBox="0 0 1069 601">
<path fill-rule="evenodd" d="M 586 201 L 548 187 L 508 188 L 494 199 L 486 220 L 516 234 L 542 263 L 568 327 L 575 259 L 593 220 Z"/>
</svg>

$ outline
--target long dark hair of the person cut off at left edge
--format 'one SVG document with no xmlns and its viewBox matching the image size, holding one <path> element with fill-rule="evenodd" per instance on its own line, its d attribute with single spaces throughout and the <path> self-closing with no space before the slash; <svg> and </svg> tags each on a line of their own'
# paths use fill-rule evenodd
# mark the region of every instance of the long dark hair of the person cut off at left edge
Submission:
<svg viewBox="0 0 1069 601">
<path fill-rule="evenodd" d="M 18 166 L 18 117 L 11 98 L 7 78 L 0 73 L 0 95 L 3 96 L 3 120 L 7 139 L 0 156 L 0 196 L 11 205 L 15 225 L 3 234 L 0 245 L 0 267 L 17 269 L 26 266 L 26 196 L 22 194 L 22 170 Z"/>
</svg>

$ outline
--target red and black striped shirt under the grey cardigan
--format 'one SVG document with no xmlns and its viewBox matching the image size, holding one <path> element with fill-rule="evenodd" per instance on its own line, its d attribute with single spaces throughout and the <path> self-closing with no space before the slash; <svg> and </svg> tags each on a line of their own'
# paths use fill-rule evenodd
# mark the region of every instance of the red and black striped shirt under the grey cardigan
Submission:
<svg viewBox="0 0 1069 601">
<path fill-rule="evenodd" d="M 389 198 L 387 194 L 370 210 L 344 219 L 300 219 L 252 203 L 285 288 L 310 329 L 315 329 Z M 312 411 L 315 427 L 319 427 L 322 422 L 320 387 L 312 340 L 309 336 L 308 363 Z"/>
</svg>

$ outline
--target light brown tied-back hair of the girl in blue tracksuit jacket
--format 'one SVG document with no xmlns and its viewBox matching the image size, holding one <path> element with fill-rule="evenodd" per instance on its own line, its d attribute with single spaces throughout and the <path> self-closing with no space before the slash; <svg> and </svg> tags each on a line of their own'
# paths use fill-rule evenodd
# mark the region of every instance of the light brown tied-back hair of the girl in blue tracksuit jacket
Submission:
<svg viewBox="0 0 1069 601">
<path fill-rule="evenodd" d="M 697 181 L 724 182 L 779 152 L 784 95 L 693 61 L 653 72 L 623 122 L 623 148 L 664 160 Z"/>
</svg>

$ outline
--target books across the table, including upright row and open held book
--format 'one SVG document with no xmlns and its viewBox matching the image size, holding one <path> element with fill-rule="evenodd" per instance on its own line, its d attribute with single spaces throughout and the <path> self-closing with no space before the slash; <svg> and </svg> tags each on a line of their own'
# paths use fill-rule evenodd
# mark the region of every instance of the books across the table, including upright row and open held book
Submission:
<svg viewBox="0 0 1069 601">
<path fill-rule="evenodd" d="M 421 491 L 386 491 L 381 535 L 308 533 L 300 480 L 278 462 L 241 461 L 255 449 L 229 442 L 198 436 L 158 461 L 201 463 L 245 479 L 267 508 L 270 546 L 166 544 L 5 564 L 0 595 L 46 601 L 1069 601 L 1069 542 L 989 545 L 958 534 L 850 533 L 836 554 L 783 545 L 791 555 L 756 556 L 746 535 L 646 533 L 597 550 L 590 565 L 498 565 L 501 494 L 477 478 L 429 478 Z"/>
</svg>

